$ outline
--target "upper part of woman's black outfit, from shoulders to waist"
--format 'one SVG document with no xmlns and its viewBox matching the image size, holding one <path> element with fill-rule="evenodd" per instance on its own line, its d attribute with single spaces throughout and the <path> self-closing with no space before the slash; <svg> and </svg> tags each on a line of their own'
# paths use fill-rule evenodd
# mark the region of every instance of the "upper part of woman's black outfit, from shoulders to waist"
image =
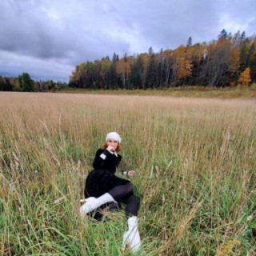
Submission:
<svg viewBox="0 0 256 256">
<path fill-rule="evenodd" d="M 94 158 L 94 170 L 109 170 L 114 174 L 122 160 L 120 154 L 110 153 L 108 150 L 98 149 Z"/>
</svg>

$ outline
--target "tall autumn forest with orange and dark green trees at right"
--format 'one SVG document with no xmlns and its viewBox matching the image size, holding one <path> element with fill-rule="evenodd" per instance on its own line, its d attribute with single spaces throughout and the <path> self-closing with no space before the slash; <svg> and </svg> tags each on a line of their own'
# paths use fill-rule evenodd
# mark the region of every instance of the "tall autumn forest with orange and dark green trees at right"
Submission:
<svg viewBox="0 0 256 256">
<path fill-rule="evenodd" d="M 245 31 L 222 30 L 218 39 L 175 50 L 152 47 L 148 53 L 119 58 L 118 54 L 82 62 L 70 75 L 69 86 L 88 89 L 148 89 L 170 86 L 237 86 L 256 82 L 256 39 Z"/>
</svg>

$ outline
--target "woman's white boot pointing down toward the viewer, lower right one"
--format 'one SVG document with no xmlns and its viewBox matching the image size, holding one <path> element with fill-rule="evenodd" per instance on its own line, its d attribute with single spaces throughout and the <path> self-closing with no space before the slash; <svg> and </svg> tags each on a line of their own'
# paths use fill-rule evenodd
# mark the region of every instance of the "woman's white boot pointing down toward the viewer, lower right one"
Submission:
<svg viewBox="0 0 256 256">
<path fill-rule="evenodd" d="M 130 245 L 133 252 L 136 252 L 141 245 L 141 238 L 138 233 L 138 218 L 136 216 L 128 218 L 128 231 L 123 234 L 122 248 L 126 247 L 126 244 Z"/>
</svg>

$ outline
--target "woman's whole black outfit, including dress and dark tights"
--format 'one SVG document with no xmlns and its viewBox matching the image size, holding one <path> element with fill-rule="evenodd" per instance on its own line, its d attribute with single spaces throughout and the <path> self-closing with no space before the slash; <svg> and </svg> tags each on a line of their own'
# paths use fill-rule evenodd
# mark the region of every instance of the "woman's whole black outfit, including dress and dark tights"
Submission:
<svg viewBox="0 0 256 256">
<path fill-rule="evenodd" d="M 126 215 L 137 215 L 139 198 L 134 195 L 133 185 L 130 181 L 115 175 L 119 163 L 122 160 L 120 154 L 112 154 L 108 150 L 98 149 L 94 158 L 94 170 L 86 178 L 84 190 L 85 198 L 98 198 L 102 194 L 109 193 L 121 208 L 121 202 L 126 203 Z M 110 203 L 110 210 L 118 206 Z"/>
</svg>

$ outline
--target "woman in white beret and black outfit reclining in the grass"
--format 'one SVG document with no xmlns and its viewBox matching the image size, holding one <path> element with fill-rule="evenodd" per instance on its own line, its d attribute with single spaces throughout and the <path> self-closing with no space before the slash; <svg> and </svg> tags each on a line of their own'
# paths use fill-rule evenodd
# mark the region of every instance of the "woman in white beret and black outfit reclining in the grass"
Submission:
<svg viewBox="0 0 256 256">
<path fill-rule="evenodd" d="M 121 202 L 125 203 L 128 231 L 123 235 L 122 245 L 125 247 L 130 244 L 131 249 L 137 251 L 141 243 L 137 218 L 139 198 L 134 195 L 134 187 L 130 181 L 115 175 L 122 160 L 122 156 L 118 154 L 121 140 L 116 132 L 106 134 L 104 149 L 97 150 L 94 170 L 86 178 L 86 203 L 81 206 L 80 213 L 85 216 L 106 204 L 109 204 L 110 209 L 116 209 Z M 134 170 L 124 173 L 134 176 Z"/>
</svg>

